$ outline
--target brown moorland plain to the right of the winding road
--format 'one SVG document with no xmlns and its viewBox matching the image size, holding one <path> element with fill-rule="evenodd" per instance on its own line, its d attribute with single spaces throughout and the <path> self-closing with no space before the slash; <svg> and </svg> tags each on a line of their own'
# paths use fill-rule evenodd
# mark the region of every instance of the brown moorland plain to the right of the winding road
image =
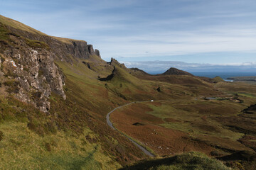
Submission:
<svg viewBox="0 0 256 170">
<path fill-rule="evenodd" d="M 201 151 L 224 157 L 244 150 L 255 152 L 255 112 L 254 105 L 250 106 L 255 103 L 251 91 L 255 86 L 221 81 L 215 87 L 222 94 L 211 100 L 198 96 L 134 103 L 114 111 L 111 120 L 117 129 L 159 155 Z M 242 157 L 238 161 L 247 169 L 255 164 Z"/>
</svg>

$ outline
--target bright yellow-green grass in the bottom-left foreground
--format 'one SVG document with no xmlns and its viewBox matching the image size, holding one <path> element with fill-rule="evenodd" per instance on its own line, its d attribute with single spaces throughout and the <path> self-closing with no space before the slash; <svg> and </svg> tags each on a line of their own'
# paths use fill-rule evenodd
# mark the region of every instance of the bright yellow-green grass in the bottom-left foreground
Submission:
<svg viewBox="0 0 256 170">
<path fill-rule="evenodd" d="M 68 133 L 40 137 L 26 123 L 2 123 L 0 169 L 116 169 L 119 164 L 81 135 Z M 85 135 L 91 133 L 85 129 Z"/>
</svg>

